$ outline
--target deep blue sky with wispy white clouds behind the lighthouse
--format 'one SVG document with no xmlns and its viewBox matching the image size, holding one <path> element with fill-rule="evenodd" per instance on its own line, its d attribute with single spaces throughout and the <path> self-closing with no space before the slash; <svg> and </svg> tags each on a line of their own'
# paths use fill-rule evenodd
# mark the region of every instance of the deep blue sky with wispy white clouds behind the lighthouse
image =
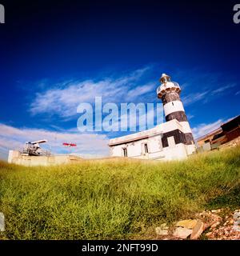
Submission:
<svg viewBox="0 0 240 256">
<path fill-rule="evenodd" d="M 55 153 L 107 155 L 109 138 L 80 133 L 77 106 L 159 102 L 162 73 L 182 87 L 195 138 L 239 114 L 240 24 L 234 2 L 1 2 L 0 158 L 47 138 Z"/>
</svg>

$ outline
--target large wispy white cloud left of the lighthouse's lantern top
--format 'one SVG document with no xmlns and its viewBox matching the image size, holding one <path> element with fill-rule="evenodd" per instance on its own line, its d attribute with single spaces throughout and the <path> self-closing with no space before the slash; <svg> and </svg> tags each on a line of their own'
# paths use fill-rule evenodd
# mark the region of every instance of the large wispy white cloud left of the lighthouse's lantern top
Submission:
<svg viewBox="0 0 240 256">
<path fill-rule="evenodd" d="M 154 84 L 148 83 L 136 86 L 148 67 L 135 70 L 120 78 L 104 78 L 101 81 L 86 80 L 83 82 L 69 82 L 54 86 L 43 93 L 35 95 L 30 104 L 31 114 L 58 114 L 62 118 L 70 118 L 77 114 L 77 106 L 82 102 L 93 103 L 94 98 L 101 96 L 103 102 L 120 102 L 122 98 L 137 98 L 153 90 Z"/>
</svg>

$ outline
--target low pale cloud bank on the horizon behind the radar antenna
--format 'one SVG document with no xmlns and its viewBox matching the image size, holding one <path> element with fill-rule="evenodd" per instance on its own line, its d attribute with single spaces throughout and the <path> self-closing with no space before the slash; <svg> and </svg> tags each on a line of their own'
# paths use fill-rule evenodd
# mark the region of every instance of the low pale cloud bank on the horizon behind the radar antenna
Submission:
<svg viewBox="0 0 240 256">
<path fill-rule="evenodd" d="M 109 138 L 105 134 L 80 134 L 74 129 L 61 131 L 41 130 L 35 128 L 14 128 L 0 123 L 0 150 L 1 155 L 7 154 L 8 150 L 21 150 L 27 141 L 47 139 L 46 149 L 54 154 L 68 153 L 69 149 L 62 146 L 62 142 L 74 142 L 76 148 L 71 148 L 71 153 L 80 156 L 107 156 Z"/>
</svg>

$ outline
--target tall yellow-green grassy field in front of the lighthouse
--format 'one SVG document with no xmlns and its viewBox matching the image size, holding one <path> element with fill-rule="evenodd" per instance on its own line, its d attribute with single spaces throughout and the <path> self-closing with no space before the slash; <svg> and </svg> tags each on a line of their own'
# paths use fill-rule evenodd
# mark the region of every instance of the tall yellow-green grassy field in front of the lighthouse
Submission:
<svg viewBox="0 0 240 256">
<path fill-rule="evenodd" d="M 198 210 L 240 206 L 240 148 L 183 162 L 0 162 L 0 239 L 141 238 Z"/>
</svg>

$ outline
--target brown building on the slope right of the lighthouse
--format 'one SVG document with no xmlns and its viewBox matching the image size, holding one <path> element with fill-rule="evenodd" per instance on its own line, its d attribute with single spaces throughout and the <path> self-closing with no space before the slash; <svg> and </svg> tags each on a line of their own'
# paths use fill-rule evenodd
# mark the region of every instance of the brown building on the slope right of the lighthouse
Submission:
<svg viewBox="0 0 240 256">
<path fill-rule="evenodd" d="M 213 149 L 227 142 L 231 142 L 240 136 L 240 115 L 224 122 L 218 129 L 197 139 L 198 146 L 203 149 Z"/>
</svg>

